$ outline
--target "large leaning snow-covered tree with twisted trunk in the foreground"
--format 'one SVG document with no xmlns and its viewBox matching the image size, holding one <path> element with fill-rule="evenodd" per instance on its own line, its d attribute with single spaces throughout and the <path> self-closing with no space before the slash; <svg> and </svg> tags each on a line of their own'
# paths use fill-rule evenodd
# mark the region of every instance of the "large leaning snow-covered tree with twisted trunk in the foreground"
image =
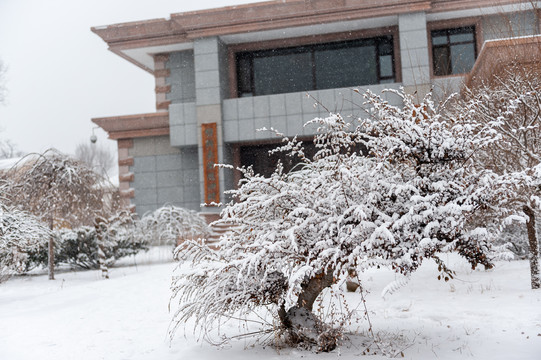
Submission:
<svg viewBox="0 0 541 360">
<path fill-rule="evenodd" d="M 348 274 L 388 267 L 407 277 L 433 259 L 448 280 L 453 272 L 438 256 L 447 252 L 474 268 L 492 266 L 494 227 L 470 219 L 505 192 L 496 174 L 471 161 L 493 132 L 471 117 L 443 117 L 430 95 L 420 104 L 397 95 L 402 107 L 367 93 L 373 116 L 355 123 L 338 114 L 311 121 L 319 125 L 313 159 L 301 142 L 284 139 L 279 151 L 300 159 L 289 173 L 280 165 L 268 178 L 241 169 L 218 221 L 232 230 L 218 250 L 197 241 L 178 249 L 191 268 L 180 266 L 173 279 L 171 334 L 189 318 L 208 333 L 266 308 L 290 343 L 330 350 L 337 324 L 325 324 L 313 305 L 326 288 L 341 291 Z"/>
</svg>

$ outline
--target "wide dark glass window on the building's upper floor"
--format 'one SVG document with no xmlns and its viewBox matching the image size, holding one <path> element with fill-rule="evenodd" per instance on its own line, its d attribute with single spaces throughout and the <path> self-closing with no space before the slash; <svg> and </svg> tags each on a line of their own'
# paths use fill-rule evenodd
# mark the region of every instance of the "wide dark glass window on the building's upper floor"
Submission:
<svg viewBox="0 0 541 360">
<path fill-rule="evenodd" d="M 394 82 L 393 37 L 237 53 L 238 95 Z"/>
</svg>

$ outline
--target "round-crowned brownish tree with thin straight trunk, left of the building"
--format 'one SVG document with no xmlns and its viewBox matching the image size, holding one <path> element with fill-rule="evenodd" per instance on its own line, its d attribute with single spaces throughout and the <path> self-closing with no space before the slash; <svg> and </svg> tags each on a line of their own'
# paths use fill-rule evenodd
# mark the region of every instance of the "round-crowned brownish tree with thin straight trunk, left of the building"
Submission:
<svg viewBox="0 0 541 360">
<path fill-rule="evenodd" d="M 92 224 L 104 209 L 102 177 L 88 166 L 48 150 L 30 155 L 5 174 L 12 204 L 37 216 L 50 230 Z M 49 278 L 54 279 L 54 238 L 49 238 Z"/>
</svg>

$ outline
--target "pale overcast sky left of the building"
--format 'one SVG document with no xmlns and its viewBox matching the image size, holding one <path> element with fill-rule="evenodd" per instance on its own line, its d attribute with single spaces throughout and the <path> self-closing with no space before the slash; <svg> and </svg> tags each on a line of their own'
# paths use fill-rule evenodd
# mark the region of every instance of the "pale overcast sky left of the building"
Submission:
<svg viewBox="0 0 541 360">
<path fill-rule="evenodd" d="M 260 1 L 0 0 L 0 60 L 8 68 L 0 139 L 25 152 L 73 153 L 89 141 L 91 118 L 155 111 L 152 75 L 108 51 L 91 26 Z"/>
</svg>

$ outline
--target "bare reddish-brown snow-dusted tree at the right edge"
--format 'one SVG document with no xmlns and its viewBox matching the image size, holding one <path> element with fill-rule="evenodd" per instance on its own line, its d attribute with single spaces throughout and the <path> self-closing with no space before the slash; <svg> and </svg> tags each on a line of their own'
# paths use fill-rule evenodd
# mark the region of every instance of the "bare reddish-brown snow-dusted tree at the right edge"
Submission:
<svg viewBox="0 0 541 360">
<path fill-rule="evenodd" d="M 483 166 L 498 174 L 520 174 L 514 191 L 501 198 L 514 208 L 526 225 L 532 288 L 541 287 L 536 211 L 541 209 L 541 75 L 539 66 L 520 65 L 495 74 L 490 82 L 466 91 L 458 112 L 491 126 L 499 140 L 477 156 Z M 470 116 L 467 114 L 466 116 Z"/>
</svg>

